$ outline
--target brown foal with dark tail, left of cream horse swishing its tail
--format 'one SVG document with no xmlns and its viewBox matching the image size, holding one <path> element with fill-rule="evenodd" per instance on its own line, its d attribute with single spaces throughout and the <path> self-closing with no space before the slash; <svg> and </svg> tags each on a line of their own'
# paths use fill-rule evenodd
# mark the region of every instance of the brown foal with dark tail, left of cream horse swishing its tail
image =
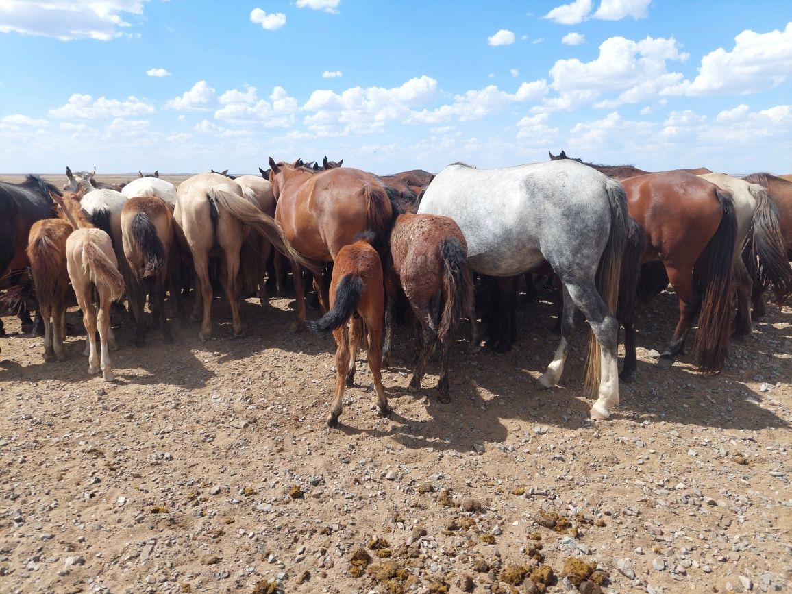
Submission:
<svg viewBox="0 0 792 594">
<path fill-rule="evenodd" d="M 165 311 L 165 287 L 173 247 L 173 213 L 156 196 L 130 198 L 121 210 L 124 257 L 129 269 L 129 305 L 135 315 L 135 346 L 146 344 L 143 307 L 150 295 L 154 326 L 162 329 L 162 340 L 173 342 Z M 178 299 L 178 295 L 171 295 Z"/>
</svg>

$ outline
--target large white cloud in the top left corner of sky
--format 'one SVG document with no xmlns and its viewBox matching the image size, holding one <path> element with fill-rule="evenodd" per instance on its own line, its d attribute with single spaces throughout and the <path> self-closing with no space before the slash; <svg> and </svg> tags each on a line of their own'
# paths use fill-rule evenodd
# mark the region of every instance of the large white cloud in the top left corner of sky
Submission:
<svg viewBox="0 0 792 594">
<path fill-rule="evenodd" d="M 112 40 L 131 24 L 122 15 L 143 15 L 146 0 L 2 0 L 0 32 L 55 37 L 62 41 Z"/>
</svg>

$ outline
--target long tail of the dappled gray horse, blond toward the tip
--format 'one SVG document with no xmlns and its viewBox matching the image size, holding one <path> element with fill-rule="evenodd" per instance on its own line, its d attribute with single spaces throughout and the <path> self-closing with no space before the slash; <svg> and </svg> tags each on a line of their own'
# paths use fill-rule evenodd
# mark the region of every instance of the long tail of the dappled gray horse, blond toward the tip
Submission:
<svg viewBox="0 0 792 594">
<path fill-rule="evenodd" d="M 615 315 L 619 307 L 624 255 L 629 247 L 630 230 L 635 232 L 631 223 L 635 222 L 627 214 L 627 197 L 624 186 L 619 181 L 606 177 L 605 193 L 611 208 L 611 230 L 600 257 L 600 267 L 597 268 L 596 287 L 607 309 Z M 600 371 L 600 343 L 597 342 L 594 333 L 589 332 L 585 386 L 592 394 L 598 391 Z"/>
</svg>

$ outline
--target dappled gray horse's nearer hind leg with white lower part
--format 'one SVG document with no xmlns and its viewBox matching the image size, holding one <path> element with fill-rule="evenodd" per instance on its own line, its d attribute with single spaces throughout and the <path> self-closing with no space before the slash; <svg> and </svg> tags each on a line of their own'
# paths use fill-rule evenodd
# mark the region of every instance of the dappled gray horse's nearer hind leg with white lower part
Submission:
<svg viewBox="0 0 792 594">
<path fill-rule="evenodd" d="M 602 421 L 611 416 L 612 406 L 619 405 L 619 321 L 607 309 L 593 279 L 581 282 L 562 277 L 562 281 L 600 344 L 600 393 L 589 414 L 592 419 Z"/>
</svg>

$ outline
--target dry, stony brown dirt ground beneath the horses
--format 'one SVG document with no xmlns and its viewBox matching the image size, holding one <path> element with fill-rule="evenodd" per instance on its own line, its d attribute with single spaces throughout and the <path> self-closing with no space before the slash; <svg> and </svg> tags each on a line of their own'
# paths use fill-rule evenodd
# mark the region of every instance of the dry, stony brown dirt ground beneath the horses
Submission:
<svg viewBox="0 0 792 594">
<path fill-rule="evenodd" d="M 210 341 L 174 321 L 176 344 L 152 331 L 142 349 L 116 315 L 116 383 L 87 374 L 84 337 L 45 364 L 3 317 L 0 591 L 789 591 L 789 308 L 705 377 L 689 354 L 654 366 L 676 323 L 660 295 L 638 379 L 598 423 L 582 329 L 561 385 L 535 386 L 557 340 L 546 301 L 520 306 L 505 355 L 467 354 L 460 329 L 448 405 L 436 361 L 408 393 L 398 328 L 394 413 L 376 416 L 361 358 L 331 430 L 333 339 L 289 333 L 293 300 L 271 303 L 243 303 L 245 337 L 216 299 Z"/>
</svg>

